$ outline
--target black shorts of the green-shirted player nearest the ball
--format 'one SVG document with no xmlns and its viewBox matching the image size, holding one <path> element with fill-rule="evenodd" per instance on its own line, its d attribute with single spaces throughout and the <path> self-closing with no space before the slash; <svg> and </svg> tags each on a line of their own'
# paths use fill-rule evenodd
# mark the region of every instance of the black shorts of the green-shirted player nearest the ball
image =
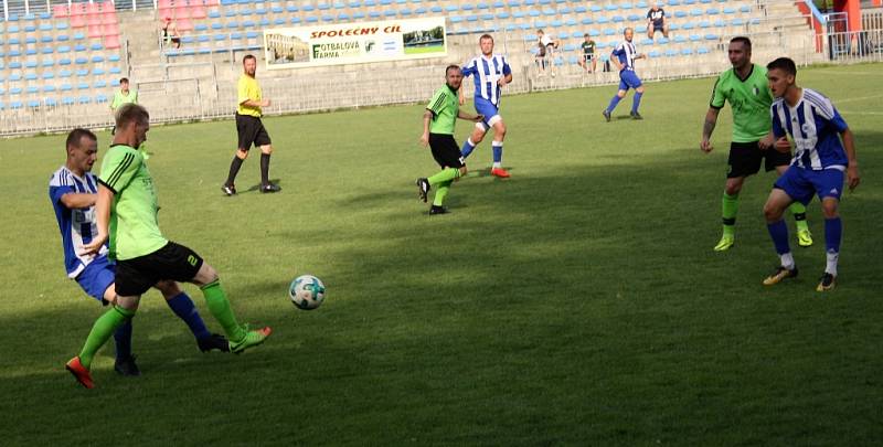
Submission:
<svg viewBox="0 0 883 447">
<path fill-rule="evenodd" d="M 162 248 L 126 260 L 117 260 L 117 295 L 142 295 L 161 279 L 190 281 L 202 267 L 202 258 L 192 249 L 169 242 Z"/>
</svg>

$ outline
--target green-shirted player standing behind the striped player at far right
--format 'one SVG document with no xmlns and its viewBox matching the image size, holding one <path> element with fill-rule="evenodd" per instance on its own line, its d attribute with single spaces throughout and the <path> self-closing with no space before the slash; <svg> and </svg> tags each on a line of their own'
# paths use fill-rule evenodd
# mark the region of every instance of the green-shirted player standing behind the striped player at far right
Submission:
<svg viewBox="0 0 883 447">
<path fill-rule="evenodd" d="M 711 134 L 717 124 L 717 114 L 724 103 L 728 102 L 733 109 L 733 140 L 730 143 L 730 169 L 722 199 L 723 235 L 714 246 L 715 252 L 728 249 L 735 243 L 738 193 L 745 178 L 757 173 L 762 162 L 767 171 L 775 169 L 781 175 L 791 161 L 789 152 L 768 150 L 774 141 L 770 134 L 773 121 L 769 118 L 773 94 L 767 84 L 766 68 L 752 63 L 752 41 L 743 36 L 733 38 L 728 54 L 733 68 L 721 73 L 714 83 L 700 143 L 703 152 L 711 152 Z M 812 245 L 812 235 L 806 221 L 806 206 L 794 202 L 790 210 L 797 221 L 798 244 L 801 247 Z"/>
</svg>

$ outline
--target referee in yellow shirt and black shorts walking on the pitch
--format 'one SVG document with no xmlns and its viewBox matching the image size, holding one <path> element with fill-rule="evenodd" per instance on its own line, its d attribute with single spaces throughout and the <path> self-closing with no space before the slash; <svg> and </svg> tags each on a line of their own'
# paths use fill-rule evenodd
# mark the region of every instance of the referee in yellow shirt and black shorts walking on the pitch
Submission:
<svg viewBox="0 0 883 447">
<path fill-rule="evenodd" d="M 230 163 L 230 174 L 227 181 L 221 190 L 226 195 L 236 194 L 236 187 L 234 184 L 236 174 L 242 168 L 242 162 L 248 157 L 248 150 L 254 143 L 255 147 L 260 147 L 260 192 L 278 192 L 281 190 L 279 185 L 269 182 L 269 156 L 273 153 L 273 147 L 269 141 L 269 134 L 260 123 L 260 117 L 264 115 L 260 110 L 262 107 L 269 107 L 269 99 L 264 99 L 260 93 L 260 86 L 255 79 L 255 72 L 257 71 L 257 60 L 255 56 L 248 54 L 242 58 L 243 74 L 240 76 L 238 82 L 238 107 L 236 109 L 236 134 L 240 138 L 238 147 L 236 148 L 236 156 L 233 157 L 233 162 Z"/>
</svg>

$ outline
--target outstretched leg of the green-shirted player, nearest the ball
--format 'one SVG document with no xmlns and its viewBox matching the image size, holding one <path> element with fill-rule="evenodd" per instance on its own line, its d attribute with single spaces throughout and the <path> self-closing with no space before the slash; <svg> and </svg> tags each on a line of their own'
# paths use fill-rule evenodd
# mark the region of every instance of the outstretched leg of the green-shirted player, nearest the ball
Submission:
<svg viewBox="0 0 883 447">
<path fill-rule="evenodd" d="M 163 251 L 162 258 L 167 259 L 166 268 L 170 272 L 169 276 L 172 279 L 187 280 L 200 286 L 205 302 L 209 305 L 209 311 L 224 328 L 230 340 L 231 352 L 240 353 L 247 348 L 263 343 L 269 337 L 273 330 L 268 327 L 249 330 L 247 324 L 240 324 L 230 307 L 230 300 L 221 287 L 217 272 L 203 262 L 195 252 L 171 242 L 160 249 Z"/>
</svg>

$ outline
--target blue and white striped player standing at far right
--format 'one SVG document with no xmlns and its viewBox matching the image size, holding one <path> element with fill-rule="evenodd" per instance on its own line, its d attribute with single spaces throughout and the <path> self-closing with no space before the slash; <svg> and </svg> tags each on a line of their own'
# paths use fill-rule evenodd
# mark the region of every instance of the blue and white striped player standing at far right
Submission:
<svg viewBox="0 0 883 447">
<path fill-rule="evenodd" d="M 838 212 L 843 173 L 847 173 L 850 190 L 859 185 L 852 132 L 830 99 L 795 84 L 797 67 L 794 61 L 780 57 L 770 62 L 767 70 L 769 87 L 777 98 L 769 108 L 776 148 L 790 149 L 786 139 L 790 136 L 795 151 L 791 164 L 776 180 L 764 206 L 767 228 L 781 260 L 781 266 L 764 280 L 764 285 L 772 286 L 797 276 L 797 266 L 788 246 L 788 227 L 781 213 L 791 202 L 807 204 L 818 195 L 825 214 L 827 264 L 816 290 L 830 290 L 836 284 L 843 233 Z"/>
</svg>

